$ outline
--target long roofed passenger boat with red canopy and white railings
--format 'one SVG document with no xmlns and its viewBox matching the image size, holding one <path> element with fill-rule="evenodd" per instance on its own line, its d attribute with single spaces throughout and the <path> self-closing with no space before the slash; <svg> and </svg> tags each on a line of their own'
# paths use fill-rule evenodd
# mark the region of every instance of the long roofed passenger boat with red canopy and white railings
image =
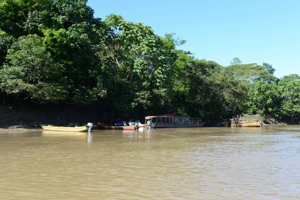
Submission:
<svg viewBox="0 0 300 200">
<path fill-rule="evenodd" d="M 200 127 L 205 123 L 201 118 L 175 116 L 173 114 L 145 116 L 145 125 L 149 122 L 154 125 L 154 128 Z"/>
</svg>

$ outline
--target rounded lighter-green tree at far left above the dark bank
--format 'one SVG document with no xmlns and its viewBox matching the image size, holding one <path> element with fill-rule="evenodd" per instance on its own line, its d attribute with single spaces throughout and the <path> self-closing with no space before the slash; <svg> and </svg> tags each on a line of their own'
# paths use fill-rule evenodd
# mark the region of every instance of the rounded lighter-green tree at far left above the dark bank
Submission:
<svg viewBox="0 0 300 200">
<path fill-rule="evenodd" d="M 0 69 L 0 87 L 7 94 L 39 102 L 60 100 L 67 92 L 58 84 L 61 65 L 55 63 L 37 35 L 19 37 L 8 49 Z"/>
</svg>

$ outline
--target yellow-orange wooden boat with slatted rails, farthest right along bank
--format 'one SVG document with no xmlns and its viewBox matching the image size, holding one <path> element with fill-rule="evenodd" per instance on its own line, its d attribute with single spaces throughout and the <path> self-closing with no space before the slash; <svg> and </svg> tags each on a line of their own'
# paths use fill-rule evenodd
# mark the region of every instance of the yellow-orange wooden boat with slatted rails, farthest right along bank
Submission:
<svg viewBox="0 0 300 200">
<path fill-rule="evenodd" d="M 231 119 L 231 126 L 238 127 L 259 127 L 263 125 L 259 114 L 247 113 L 242 116 L 237 116 Z"/>
</svg>

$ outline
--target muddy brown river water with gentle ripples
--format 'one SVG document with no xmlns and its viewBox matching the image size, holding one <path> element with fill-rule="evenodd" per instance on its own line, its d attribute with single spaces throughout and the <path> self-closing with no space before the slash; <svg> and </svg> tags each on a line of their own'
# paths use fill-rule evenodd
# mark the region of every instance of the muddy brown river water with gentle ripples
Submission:
<svg viewBox="0 0 300 200">
<path fill-rule="evenodd" d="M 0 199 L 300 199 L 300 126 L 0 132 Z"/>
</svg>

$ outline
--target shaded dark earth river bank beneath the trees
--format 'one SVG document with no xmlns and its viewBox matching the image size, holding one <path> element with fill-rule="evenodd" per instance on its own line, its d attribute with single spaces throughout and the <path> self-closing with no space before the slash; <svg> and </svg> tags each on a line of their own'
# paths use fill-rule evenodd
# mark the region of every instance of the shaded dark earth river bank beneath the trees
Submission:
<svg viewBox="0 0 300 200">
<path fill-rule="evenodd" d="M 29 106 L 3 106 L 0 105 L 0 131 L 35 131 L 41 130 L 40 124 L 53 125 L 82 125 L 87 122 L 114 123 L 113 116 L 109 116 L 99 107 L 78 107 L 73 105 L 57 106 L 56 104 L 29 105 Z M 267 117 L 265 125 L 288 125 Z M 205 126 L 219 126 L 220 123 L 208 122 Z"/>
</svg>

